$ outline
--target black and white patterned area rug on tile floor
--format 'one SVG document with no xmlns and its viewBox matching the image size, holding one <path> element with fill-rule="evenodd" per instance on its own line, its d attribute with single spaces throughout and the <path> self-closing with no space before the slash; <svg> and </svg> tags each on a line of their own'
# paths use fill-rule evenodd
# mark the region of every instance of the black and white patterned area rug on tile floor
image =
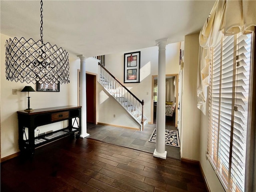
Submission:
<svg viewBox="0 0 256 192">
<path fill-rule="evenodd" d="M 154 129 L 149 142 L 156 142 L 156 128 Z M 178 131 L 174 130 L 165 130 L 165 144 L 174 146 L 174 147 L 180 147 L 180 141 L 178 137 Z"/>
</svg>

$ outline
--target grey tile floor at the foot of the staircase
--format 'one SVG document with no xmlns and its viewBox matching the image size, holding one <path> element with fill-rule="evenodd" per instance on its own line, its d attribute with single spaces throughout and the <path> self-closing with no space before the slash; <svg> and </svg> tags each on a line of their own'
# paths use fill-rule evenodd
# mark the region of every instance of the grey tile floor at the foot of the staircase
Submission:
<svg viewBox="0 0 256 192">
<path fill-rule="evenodd" d="M 95 124 L 87 124 L 87 132 L 90 134 L 88 138 L 100 140 L 118 146 L 124 146 L 137 150 L 154 153 L 156 144 L 149 142 L 152 132 L 156 128 L 156 124 L 146 124 L 144 131 L 119 128 L 114 126 L 102 126 Z M 174 126 L 166 126 L 166 129 L 177 130 Z M 170 158 L 180 160 L 180 148 L 166 145 L 165 150 Z"/>
</svg>

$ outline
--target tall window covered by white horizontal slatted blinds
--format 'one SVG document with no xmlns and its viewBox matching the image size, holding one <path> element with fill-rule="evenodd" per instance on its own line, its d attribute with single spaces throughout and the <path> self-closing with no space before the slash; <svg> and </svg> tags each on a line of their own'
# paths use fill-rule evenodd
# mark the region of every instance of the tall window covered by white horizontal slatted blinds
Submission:
<svg viewBox="0 0 256 192">
<path fill-rule="evenodd" d="M 212 48 L 207 154 L 226 191 L 243 192 L 252 35 Z"/>
</svg>

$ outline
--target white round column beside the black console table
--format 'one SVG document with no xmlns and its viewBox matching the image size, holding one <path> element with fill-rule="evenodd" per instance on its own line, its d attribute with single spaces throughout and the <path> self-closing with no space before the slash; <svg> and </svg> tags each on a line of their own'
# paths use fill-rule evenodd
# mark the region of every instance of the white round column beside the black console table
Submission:
<svg viewBox="0 0 256 192">
<path fill-rule="evenodd" d="M 81 134 L 80 137 L 84 138 L 89 136 L 87 133 L 87 114 L 86 114 L 86 71 L 85 71 L 85 60 L 86 57 L 78 55 L 80 58 L 80 106 L 81 109 Z"/>
</svg>

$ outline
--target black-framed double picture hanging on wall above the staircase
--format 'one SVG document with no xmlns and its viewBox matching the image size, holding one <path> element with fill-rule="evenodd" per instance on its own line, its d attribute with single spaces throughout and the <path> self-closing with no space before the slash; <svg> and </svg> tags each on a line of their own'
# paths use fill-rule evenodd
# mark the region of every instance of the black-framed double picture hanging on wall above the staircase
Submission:
<svg viewBox="0 0 256 192">
<path fill-rule="evenodd" d="M 140 83 L 140 51 L 124 54 L 124 83 Z"/>
</svg>

